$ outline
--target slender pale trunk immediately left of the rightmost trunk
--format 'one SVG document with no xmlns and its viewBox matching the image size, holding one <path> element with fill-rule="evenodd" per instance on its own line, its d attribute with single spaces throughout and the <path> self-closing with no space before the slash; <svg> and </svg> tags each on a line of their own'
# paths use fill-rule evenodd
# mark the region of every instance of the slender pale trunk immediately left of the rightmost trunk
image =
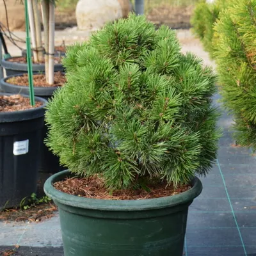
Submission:
<svg viewBox="0 0 256 256">
<path fill-rule="evenodd" d="M 45 78 L 49 83 L 49 1 L 42 0 L 42 17 L 44 24 Z"/>
</svg>

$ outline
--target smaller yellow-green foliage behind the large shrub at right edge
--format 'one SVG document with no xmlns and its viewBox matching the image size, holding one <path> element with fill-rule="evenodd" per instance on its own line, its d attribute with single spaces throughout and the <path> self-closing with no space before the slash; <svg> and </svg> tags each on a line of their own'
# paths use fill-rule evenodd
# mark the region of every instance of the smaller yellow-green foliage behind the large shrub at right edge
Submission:
<svg viewBox="0 0 256 256">
<path fill-rule="evenodd" d="M 213 3 L 200 1 L 196 4 L 191 17 L 193 33 L 200 39 L 211 58 L 214 58 L 214 42 L 217 40 L 214 36 L 214 23 L 218 20 L 220 12 L 227 8 L 229 1 L 215 0 Z"/>
</svg>

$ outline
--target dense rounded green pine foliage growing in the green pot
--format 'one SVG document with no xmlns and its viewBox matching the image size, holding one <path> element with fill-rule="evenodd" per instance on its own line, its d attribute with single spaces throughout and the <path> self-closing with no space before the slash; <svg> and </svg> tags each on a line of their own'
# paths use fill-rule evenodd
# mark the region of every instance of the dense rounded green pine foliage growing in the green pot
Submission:
<svg viewBox="0 0 256 256">
<path fill-rule="evenodd" d="M 216 77 L 175 32 L 144 16 L 107 24 L 64 60 L 67 84 L 47 107 L 47 145 L 83 177 L 109 189 L 185 184 L 216 159 Z"/>
</svg>

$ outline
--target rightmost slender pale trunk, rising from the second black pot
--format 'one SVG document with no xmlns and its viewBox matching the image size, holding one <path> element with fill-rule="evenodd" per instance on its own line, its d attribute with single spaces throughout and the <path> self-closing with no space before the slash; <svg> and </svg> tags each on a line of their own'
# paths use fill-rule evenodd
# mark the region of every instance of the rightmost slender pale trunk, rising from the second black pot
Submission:
<svg viewBox="0 0 256 256">
<path fill-rule="evenodd" d="M 49 4 L 49 84 L 54 84 L 54 3 Z"/>
</svg>

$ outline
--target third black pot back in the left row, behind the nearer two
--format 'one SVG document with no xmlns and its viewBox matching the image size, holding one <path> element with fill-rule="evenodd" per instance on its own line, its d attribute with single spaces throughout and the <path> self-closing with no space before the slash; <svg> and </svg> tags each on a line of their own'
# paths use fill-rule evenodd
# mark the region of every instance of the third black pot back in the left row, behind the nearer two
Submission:
<svg viewBox="0 0 256 256">
<path fill-rule="evenodd" d="M 12 58 L 17 58 L 17 57 L 12 57 Z M 2 67 L 6 70 L 6 76 L 24 74 L 28 72 L 27 63 L 9 61 L 12 58 L 7 58 L 5 60 L 2 60 Z M 33 68 L 33 72 L 45 72 L 44 64 L 33 64 L 32 68 Z M 54 72 L 58 72 L 58 71 L 61 71 L 61 72 L 64 71 L 62 64 L 54 64 Z"/>
</svg>

